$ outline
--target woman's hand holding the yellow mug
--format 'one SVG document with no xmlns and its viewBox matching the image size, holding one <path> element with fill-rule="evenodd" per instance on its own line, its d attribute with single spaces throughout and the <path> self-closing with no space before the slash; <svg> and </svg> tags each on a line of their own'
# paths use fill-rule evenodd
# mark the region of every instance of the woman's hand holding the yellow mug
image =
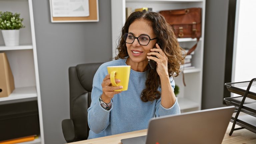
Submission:
<svg viewBox="0 0 256 144">
<path fill-rule="evenodd" d="M 120 83 L 120 80 L 115 79 L 116 83 Z M 122 91 L 114 91 L 118 89 L 122 89 L 123 86 L 112 86 L 110 81 L 110 74 L 106 75 L 106 77 L 103 79 L 103 82 L 101 83 L 102 86 L 102 95 L 101 99 L 105 103 L 110 103 L 111 99 L 114 97 L 115 94 L 119 94 Z"/>
</svg>

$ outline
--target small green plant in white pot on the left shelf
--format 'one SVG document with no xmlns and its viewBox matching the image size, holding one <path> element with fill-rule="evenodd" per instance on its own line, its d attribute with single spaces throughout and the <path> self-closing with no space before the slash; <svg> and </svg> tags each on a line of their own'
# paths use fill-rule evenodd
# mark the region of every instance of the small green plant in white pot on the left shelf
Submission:
<svg viewBox="0 0 256 144">
<path fill-rule="evenodd" d="M 19 29 L 24 28 L 20 14 L 0 11 L 0 29 L 6 46 L 19 45 Z"/>
</svg>

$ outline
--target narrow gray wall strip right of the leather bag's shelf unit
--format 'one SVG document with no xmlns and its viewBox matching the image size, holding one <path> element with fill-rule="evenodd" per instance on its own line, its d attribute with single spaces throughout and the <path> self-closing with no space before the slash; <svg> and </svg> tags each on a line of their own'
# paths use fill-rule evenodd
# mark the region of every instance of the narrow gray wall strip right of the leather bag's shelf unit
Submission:
<svg viewBox="0 0 256 144">
<path fill-rule="evenodd" d="M 206 0 L 202 109 L 223 107 L 229 0 Z"/>
</svg>

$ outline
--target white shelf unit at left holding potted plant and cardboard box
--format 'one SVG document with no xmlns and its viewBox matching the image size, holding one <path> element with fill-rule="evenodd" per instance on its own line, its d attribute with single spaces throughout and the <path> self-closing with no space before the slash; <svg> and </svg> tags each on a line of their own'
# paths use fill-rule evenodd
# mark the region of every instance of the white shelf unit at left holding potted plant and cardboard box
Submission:
<svg viewBox="0 0 256 144">
<path fill-rule="evenodd" d="M 34 141 L 22 144 L 44 144 L 32 0 L 0 0 L 0 10 L 20 13 L 25 25 L 20 29 L 19 46 L 5 46 L 0 34 L 0 52 L 7 55 L 15 84 L 14 91 L 8 97 L 0 98 L 0 105 L 37 100 L 40 135 Z"/>
</svg>

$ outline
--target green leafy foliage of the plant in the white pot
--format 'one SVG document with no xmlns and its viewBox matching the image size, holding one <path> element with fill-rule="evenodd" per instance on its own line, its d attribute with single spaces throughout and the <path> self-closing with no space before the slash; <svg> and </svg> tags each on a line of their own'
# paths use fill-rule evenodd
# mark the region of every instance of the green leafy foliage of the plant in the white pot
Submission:
<svg viewBox="0 0 256 144">
<path fill-rule="evenodd" d="M 24 28 L 23 18 L 20 18 L 20 14 L 12 12 L 2 12 L 0 11 L 0 29 L 2 30 L 17 30 Z"/>
</svg>

